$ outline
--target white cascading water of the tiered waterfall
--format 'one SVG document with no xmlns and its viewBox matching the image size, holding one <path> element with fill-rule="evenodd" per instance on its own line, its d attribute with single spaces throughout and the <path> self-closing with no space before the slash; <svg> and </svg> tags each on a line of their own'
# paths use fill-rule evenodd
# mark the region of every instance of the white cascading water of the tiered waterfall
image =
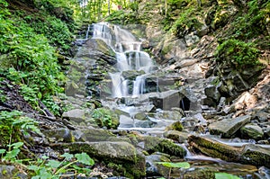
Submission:
<svg viewBox="0 0 270 179">
<path fill-rule="evenodd" d="M 129 31 L 106 22 L 95 23 L 93 39 L 106 42 L 116 53 L 118 72 L 110 73 L 112 78 L 112 97 L 137 96 L 145 91 L 145 80 L 154 65 L 148 53 L 141 51 L 141 41 Z M 136 76 L 130 81 L 122 76 L 123 72 L 144 71 L 144 75 Z M 132 90 L 130 90 L 132 86 Z"/>
</svg>

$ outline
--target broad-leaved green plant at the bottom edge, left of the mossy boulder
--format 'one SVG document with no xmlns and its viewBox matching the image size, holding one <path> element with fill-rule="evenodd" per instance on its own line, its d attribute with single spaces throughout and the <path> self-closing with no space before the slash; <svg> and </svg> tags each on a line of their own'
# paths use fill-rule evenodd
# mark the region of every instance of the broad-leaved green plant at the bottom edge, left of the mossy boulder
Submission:
<svg viewBox="0 0 270 179">
<path fill-rule="evenodd" d="M 32 162 L 31 166 L 28 166 L 28 169 L 33 172 L 31 179 L 58 179 L 70 171 L 88 175 L 91 172 L 88 167 L 94 165 L 94 160 L 86 153 L 75 156 L 65 153 L 61 157 L 64 157 L 62 161 L 47 160 L 48 157 L 42 157 Z M 86 167 L 77 166 L 78 163 Z"/>
</svg>

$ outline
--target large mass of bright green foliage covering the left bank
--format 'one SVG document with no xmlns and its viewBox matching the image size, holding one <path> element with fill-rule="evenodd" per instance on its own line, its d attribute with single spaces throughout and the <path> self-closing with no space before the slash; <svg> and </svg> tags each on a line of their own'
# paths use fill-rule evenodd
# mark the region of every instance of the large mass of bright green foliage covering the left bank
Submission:
<svg viewBox="0 0 270 179">
<path fill-rule="evenodd" d="M 9 62 L 9 67 L 2 67 L 0 71 L 11 81 L 21 85 L 25 100 L 37 108 L 38 99 L 48 101 L 51 95 L 64 90 L 58 85 L 58 81 L 63 81 L 65 76 L 60 72 L 56 49 L 49 45 L 46 37 L 37 34 L 22 18 L 9 14 L 2 17 L 0 53 L 8 54 L 5 60 Z M 64 46 L 63 40 L 67 38 L 67 33 L 62 32 L 67 32 L 67 27 L 56 19 L 49 22 L 53 27 L 51 31 L 57 31 L 56 34 L 52 34 L 51 41 L 57 41 L 55 43 Z M 45 27 L 46 24 L 43 24 L 43 28 Z M 58 35 L 58 40 L 52 38 Z M 50 109 L 54 106 L 50 103 L 47 107 Z"/>
</svg>

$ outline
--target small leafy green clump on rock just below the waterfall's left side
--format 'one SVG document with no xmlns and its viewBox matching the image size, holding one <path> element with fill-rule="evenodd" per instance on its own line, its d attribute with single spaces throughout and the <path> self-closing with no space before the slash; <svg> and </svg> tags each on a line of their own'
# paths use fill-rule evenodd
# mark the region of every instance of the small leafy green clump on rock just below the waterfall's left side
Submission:
<svg viewBox="0 0 270 179">
<path fill-rule="evenodd" d="M 92 118 L 99 127 L 106 127 L 108 129 L 116 129 L 118 122 L 115 122 L 117 115 L 105 108 L 95 109 L 92 113 Z"/>
</svg>

